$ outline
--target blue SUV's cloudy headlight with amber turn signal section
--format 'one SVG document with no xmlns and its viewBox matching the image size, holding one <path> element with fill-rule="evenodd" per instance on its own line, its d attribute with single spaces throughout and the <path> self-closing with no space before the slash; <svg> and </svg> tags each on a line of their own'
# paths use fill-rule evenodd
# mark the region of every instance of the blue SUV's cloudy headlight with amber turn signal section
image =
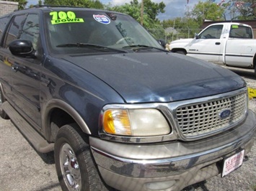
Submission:
<svg viewBox="0 0 256 191">
<path fill-rule="evenodd" d="M 124 136 L 158 136 L 170 133 L 169 124 L 160 113 L 146 109 L 108 109 L 103 113 L 103 130 Z"/>
</svg>

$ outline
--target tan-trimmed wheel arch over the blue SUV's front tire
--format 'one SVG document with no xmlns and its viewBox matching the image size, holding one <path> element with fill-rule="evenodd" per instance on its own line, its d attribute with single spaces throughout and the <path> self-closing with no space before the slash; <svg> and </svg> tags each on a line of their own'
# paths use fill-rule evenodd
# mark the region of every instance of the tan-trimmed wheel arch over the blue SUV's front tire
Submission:
<svg viewBox="0 0 256 191">
<path fill-rule="evenodd" d="M 42 125 L 48 141 L 55 141 L 58 129 L 66 124 L 76 123 L 85 134 L 92 134 L 79 113 L 65 101 L 53 99 L 47 103 L 42 113 Z"/>
</svg>

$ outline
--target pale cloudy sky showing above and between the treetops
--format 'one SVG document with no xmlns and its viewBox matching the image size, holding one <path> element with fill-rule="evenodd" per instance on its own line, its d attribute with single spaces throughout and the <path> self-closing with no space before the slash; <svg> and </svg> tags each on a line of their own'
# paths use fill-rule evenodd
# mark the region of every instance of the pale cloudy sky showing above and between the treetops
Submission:
<svg viewBox="0 0 256 191">
<path fill-rule="evenodd" d="M 30 4 L 38 4 L 38 0 L 27 0 L 27 6 L 30 6 Z M 102 4 L 108 4 L 111 3 L 112 6 L 115 5 L 122 5 L 125 3 L 129 3 L 131 0 L 100 0 Z M 139 2 L 141 0 L 138 0 Z M 192 9 L 195 4 L 198 3 L 199 0 L 189 0 L 187 3 L 187 0 L 151 0 L 155 3 L 164 2 L 165 4 L 165 13 L 159 14 L 157 17 L 159 20 L 167 20 L 167 19 L 173 19 L 175 17 L 184 17 L 185 11 L 187 9 Z M 206 1 L 206 0 L 201 0 Z M 218 3 L 221 0 L 216 0 L 216 3 Z"/>
</svg>

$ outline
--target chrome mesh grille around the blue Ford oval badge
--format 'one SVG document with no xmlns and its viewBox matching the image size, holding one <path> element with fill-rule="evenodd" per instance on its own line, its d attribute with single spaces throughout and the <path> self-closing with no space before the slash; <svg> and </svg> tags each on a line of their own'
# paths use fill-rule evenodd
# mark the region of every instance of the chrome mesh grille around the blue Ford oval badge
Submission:
<svg viewBox="0 0 256 191">
<path fill-rule="evenodd" d="M 224 110 L 230 110 L 230 115 L 221 118 Z M 186 138 L 203 136 L 219 131 L 242 120 L 247 110 L 247 94 L 241 93 L 228 98 L 220 98 L 204 103 L 177 108 L 177 120 L 181 133 Z"/>
</svg>

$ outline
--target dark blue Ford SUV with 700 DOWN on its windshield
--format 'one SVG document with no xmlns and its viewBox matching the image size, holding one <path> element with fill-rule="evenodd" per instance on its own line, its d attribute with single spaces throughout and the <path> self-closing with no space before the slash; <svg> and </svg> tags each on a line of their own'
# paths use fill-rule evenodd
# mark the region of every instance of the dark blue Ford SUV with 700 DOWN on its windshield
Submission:
<svg viewBox="0 0 256 191">
<path fill-rule="evenodd" d="M 244 80 L 164 50 L 128 15 L 38 6 L 0 23 L 0 116 L 54 151 L 63 190 L 182 190 L 250 152 Z"/>
</svg>

